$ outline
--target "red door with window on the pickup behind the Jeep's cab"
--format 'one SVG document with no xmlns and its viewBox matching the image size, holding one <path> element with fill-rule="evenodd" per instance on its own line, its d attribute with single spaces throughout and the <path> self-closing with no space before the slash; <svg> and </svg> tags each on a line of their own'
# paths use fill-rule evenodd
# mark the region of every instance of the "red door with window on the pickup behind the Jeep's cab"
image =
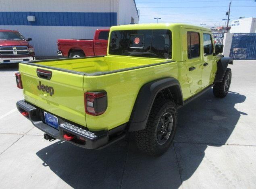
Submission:
<svg viewBox="0 0 256 189">
<path fill-rule="evenodd" d="M 109 31 L 100 31 L 94 37 L 94 53 L 95 55 L 106 55 L 108 48 Z"/>
</svg>

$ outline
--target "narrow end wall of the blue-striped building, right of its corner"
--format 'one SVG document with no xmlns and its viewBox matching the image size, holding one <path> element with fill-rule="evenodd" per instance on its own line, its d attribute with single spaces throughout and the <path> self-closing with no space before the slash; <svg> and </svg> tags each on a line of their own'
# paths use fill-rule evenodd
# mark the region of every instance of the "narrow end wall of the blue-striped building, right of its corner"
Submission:
<svg viewBox="0 0 256 189">
<path fill-rule="evenodd" d="M 135 24 L 139 23 L 139 16 L 134 1 L 119 0 L 119 25 L 130 24 L 131 17 L 133 17 Z"/>
</svg>

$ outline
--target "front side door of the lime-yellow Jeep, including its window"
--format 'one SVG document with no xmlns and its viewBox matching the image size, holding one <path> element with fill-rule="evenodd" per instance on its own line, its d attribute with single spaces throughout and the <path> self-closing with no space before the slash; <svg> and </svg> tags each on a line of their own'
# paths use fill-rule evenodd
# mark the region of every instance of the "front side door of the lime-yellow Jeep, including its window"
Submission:
<svg viewBox="0 0 256 189">
<path fill-rule="evenodd" d="M 214 79 L 214 73 L 212 72 L 212 61 L 213 61 L 213 42 L 212 36 L 207 31 L 202 31 L 203 35 L 203 53 L 204 62 L 202 70 L 202 87 L 208 86 Z"/>
</svg>

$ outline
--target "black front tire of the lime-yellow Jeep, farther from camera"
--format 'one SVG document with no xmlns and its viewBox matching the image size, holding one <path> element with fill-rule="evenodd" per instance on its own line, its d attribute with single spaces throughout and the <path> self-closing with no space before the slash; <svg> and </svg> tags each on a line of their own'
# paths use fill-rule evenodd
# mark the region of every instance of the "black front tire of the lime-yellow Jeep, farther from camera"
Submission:
<svg viewBox="0 0 256 189">
<path fill-rule="evenodd" d="M 227 68 L 222 82 L 215 83 L 213 86 L 213 94 L 215 97 L 218 97 L 218 98 L 226 97 L 227 93 L 229 92 L 229 87 L 231 84 L 231 76 L 232 76 L 231 69 Z M 228 85 L 226 83 L 227 80 L 229 80 Z"/>
</svg>

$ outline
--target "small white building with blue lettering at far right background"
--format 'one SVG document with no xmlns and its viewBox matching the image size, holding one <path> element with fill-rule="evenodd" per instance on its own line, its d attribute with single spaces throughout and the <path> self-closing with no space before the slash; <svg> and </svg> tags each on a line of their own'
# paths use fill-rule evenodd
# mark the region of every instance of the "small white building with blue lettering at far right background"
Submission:
<svg viewBox="0 0 256 189">
<path fill-rule="evenodd" d="M 256 18 L 241 18 L 232 21 L 230 33 L 256 33 Z"/>
</svg>

